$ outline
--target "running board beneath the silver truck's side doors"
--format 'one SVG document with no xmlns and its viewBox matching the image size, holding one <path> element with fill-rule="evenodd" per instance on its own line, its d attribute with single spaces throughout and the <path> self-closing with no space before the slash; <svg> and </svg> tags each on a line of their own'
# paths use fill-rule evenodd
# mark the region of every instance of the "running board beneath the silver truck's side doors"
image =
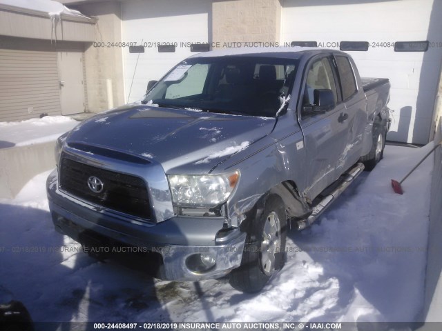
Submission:
<svg viewBox="0 0 442 331">
<path fill-rule="evenodd" d="M 336 198 L 340 196 L 342 192 L 363 172 L 363 163 L 356 163 L 356 165 L 350 169 L 348 172 L 343 174 L 339 179 L 339 185 L 329 192 L 319 203 L 317 203 L 313 208 L 311 208 L 311 214 L 307 219 L 301 219 L 296 221 L 298 230 L 307 228 L 320 217 L 325 210 L 332 204 Z"/>
</svg>

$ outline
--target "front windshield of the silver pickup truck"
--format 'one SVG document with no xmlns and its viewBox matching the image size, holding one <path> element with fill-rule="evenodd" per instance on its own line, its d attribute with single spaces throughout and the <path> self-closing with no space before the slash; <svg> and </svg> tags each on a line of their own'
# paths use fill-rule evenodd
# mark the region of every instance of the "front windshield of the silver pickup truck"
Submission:
<svg viewBox="0 0 442 331">
<path fill-rule="evenodd" d="M 178 64 L 144 97 L 166 108 L 275 117 L 293 86 L 294 59 L 200 57 Z"/>
</svg>

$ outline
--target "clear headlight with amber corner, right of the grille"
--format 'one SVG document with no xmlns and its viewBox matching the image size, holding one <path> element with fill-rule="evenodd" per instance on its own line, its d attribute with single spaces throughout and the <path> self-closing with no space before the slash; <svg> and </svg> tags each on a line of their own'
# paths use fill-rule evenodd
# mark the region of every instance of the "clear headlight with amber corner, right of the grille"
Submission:
<svg viewBox="0 0 442 331">
<path fill-rule="evenodd" d="M 227 174 L 169 175 L 175 205 L 213 207 L 226 201 L 240 179 L 240 172 Z"/>
</svg>

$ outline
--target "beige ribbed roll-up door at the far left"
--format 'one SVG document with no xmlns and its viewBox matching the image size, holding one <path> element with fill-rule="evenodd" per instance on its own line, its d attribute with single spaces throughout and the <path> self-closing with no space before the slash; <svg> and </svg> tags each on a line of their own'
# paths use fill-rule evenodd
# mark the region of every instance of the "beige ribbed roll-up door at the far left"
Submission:
<svg viewBox="0 0 442 331">
<path fill-rule="evenodd" d="M 0 121 L 61 114 L 57 53 L 23 49 L 23 39 L 3 41 L 8 49 L 0 49 Z"/>
</svg>

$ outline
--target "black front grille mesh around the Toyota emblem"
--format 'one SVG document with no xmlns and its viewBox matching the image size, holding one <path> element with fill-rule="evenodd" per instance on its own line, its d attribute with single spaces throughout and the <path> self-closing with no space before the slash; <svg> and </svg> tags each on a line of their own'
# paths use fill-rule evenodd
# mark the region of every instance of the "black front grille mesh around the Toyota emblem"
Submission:
<svg viewBox="0 0 442 331">
<path fill-rule="evenodd" d="M 102 192 L 95 193 L 90 190 L 88 179 L 92 176 L 102 181 Z M 146 183 L 139 177 L 104 170 L 63 157 L 60 163 L 59 185 L 61 190 L 105 208 L 143 219 L 151 217 Z"/>
</svg>

